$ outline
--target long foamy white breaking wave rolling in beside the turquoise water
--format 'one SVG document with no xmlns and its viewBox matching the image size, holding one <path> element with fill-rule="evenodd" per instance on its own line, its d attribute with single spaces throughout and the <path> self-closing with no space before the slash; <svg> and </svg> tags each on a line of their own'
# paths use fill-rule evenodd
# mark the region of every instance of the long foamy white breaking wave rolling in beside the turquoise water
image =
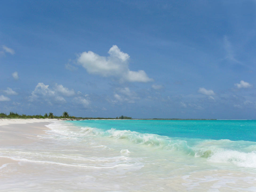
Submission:
<svg viewBox="0 0 256 192">
<path fill-rule="evenodd" d="M 48 127 L 56 133 L 69 138 L 81 139 L 82 137 L 83 139 L 88 135 L 108 137 L 128 141 L 130 144 L 157 147 L 160 150 L 180 151 L 186 155 L 207 158 L 211 162 L 233 163 L 239 167 L 256 168 L 255 142 L 230 141 L 228 139 L 178 139 L 156 134 L 138 133 L 130 130 L 101 130 L 92 127 L 81 127 L 75 129 L 75 132 L 74 130 L 66 130 L 67 125 L 59 126 L 56 125 L 56 123 Z M 63 128 L 65 129 L 63 130 Z M 238 148 L 238 146 L 240 146 L 240 148 Z M 104 145 L 93 147 L 106 148 Z M 233 148 L 233 150 L 229 149 L 230 147 Z M 120 153 L 128 154 L 130 151 L 122 149 Z"/>
</svg>

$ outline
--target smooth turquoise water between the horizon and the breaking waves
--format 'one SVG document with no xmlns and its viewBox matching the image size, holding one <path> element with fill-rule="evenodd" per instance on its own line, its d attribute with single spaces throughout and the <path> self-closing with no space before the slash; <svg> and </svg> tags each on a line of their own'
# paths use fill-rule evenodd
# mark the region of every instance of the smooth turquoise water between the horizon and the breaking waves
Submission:
<svg viewBox="0 0 256 192">
<path fill-rule="evenodd" d="M 76 126 L 130 130 L 168 137 L 255 141 L 255 120 L 85 120 Z"/>
</svg>

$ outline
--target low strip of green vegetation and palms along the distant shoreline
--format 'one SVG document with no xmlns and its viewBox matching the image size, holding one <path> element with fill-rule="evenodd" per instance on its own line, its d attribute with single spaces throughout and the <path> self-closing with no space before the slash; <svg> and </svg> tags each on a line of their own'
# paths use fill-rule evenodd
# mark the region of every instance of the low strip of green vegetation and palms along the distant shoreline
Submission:
<svg viewBox="0 0 256 192">
<path fill-rule="evenodd" d="M 40 115 L 25 115 L 25 114 L 18 114 L 14 112 L 10 112 L 9 115 L 6 113 L 0 113 L 0 118 L 7 118 L 7 119 L 31 119 L 31 118 L 36 118 L 36 119 L 45 119 L 45 118 L 51 118 L 51 119 L 68 119 L 68 120 L 85 120 L 85 119 L 132 119 L 131 117 L 127 117 L 124 115 L 121 115 L 120 117 L 116 118 L 103 118 L 103 117 L 75 117 L 75 116 L 70 116 L 67 111 L 64 111 L 61 116 L 56 116 L 53 115 L 53 113 L 49 112 L 48 114 L 45 113 L 44 116 Z M 217 120 L 217 119 L 141 119 L 141 120 Z"/>
</svg>

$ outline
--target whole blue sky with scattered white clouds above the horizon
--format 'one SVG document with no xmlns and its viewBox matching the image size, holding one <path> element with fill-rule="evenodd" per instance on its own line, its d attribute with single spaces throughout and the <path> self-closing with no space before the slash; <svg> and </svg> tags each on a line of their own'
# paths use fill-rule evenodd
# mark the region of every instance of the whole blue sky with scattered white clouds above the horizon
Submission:
<svg viewBox="0 0 256 192">
<path fill-rule="evenodd" d="M 0 113 L 256 119 L 256 1 L 1 1 Z"/>
</svg>

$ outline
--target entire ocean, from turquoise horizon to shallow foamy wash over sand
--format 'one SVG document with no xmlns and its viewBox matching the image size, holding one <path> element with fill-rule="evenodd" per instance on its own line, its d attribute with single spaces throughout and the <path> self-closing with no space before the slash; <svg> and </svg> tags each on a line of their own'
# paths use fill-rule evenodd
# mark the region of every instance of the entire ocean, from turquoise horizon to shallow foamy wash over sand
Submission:
<svg viewBox="0 0 256 192">
<path fill-rule="evenodd" d="M 35 143 L 0 149 L 1 157 L 29 167 L 18 174 L 17 165 L 0 167 L 0 190 L 256 191 L 254 120 L 84 120 L 47 127 Z"/>
</svg>

